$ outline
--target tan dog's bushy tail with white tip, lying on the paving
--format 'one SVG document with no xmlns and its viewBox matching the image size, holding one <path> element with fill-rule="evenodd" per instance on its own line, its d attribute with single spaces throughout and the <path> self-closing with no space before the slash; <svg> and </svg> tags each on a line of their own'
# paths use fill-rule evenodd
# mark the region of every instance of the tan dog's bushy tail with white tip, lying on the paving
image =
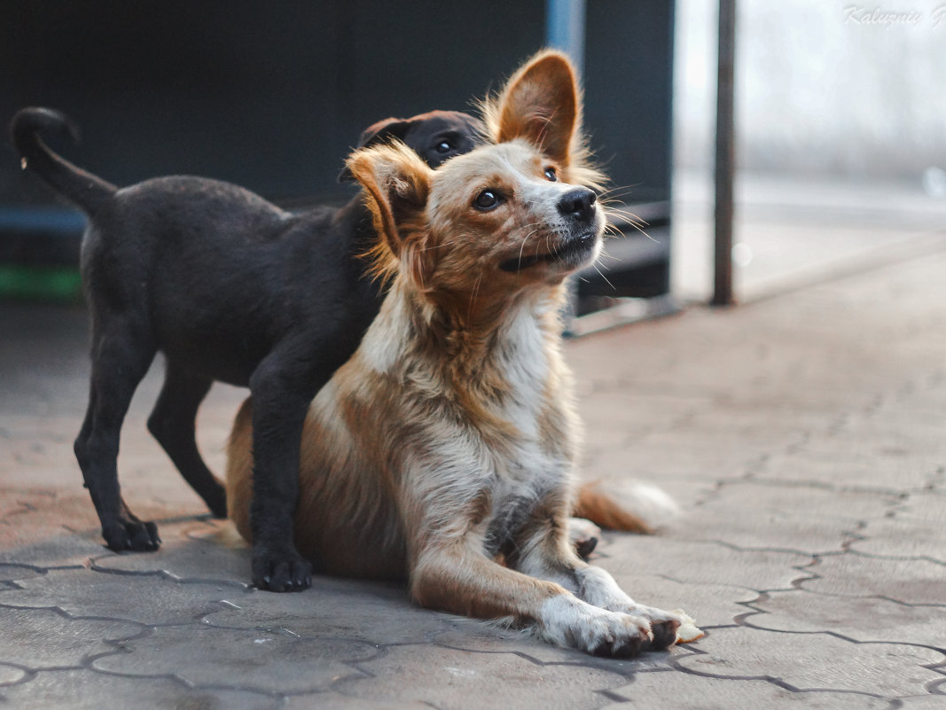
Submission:
<svg viewBox="0 0 946 710">
<path fill-rule="evenodd" d="M 679 513 L 657 486 L 642 481 L 591 481 L 578 489 L 573 515 L 601 528 L 651 534 Z"/>
</svg>

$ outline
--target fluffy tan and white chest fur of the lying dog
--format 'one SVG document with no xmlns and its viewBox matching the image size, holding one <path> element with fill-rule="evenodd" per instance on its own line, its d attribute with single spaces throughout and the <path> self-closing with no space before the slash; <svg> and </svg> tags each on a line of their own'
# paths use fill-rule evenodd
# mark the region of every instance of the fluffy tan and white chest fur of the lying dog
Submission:
<svg viewBox="0 0 946 710">
<path fill-rule="evenodd" d="M 552 289 L 517 301 L 492 328 L 458 328 L 394 286 L 350 368 L 360 381 L 349 380 L 347 398 L 375 407 L 349 407 L 358 414 L 346 421 L 397 442 L 399 454 L 387 444 L 365 454 L 423 529 L 472 532 L 496 552 L 538 509 L 569 503 L 577 427 L 558 303 Z M 379 408 L 383 392 L 396 394 Z"/>
</svg>

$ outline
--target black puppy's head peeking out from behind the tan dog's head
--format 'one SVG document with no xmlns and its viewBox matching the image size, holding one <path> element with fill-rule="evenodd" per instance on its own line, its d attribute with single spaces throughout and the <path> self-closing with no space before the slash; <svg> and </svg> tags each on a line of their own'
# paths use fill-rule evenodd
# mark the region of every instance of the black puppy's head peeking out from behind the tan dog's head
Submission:
<svg viewBox="0 0 946 710">
<path fill-rule="evenodd" d="M 484 143 L 482 122 L 469 113 L 431 111 L 412 118 L 385 118 L 363 130 L 358 147 L 376 146 L 399 140 L 410 147 L 430 167 L 437 167 L 456 155 L 468 153 Z M 339 181 L 354 180 L 345 167 Z"/>
</svg>

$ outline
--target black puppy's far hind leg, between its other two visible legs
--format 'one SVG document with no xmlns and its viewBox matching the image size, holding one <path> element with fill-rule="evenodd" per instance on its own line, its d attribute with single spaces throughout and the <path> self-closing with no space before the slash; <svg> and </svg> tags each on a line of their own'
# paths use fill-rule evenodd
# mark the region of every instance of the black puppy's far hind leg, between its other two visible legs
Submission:
<svg viewBox="0 0 946 710">
<path fill-rule="evenodd" d="M 148 419 L 148 429 L 214 517 L 225 518 L 223 485 L 201 459 L 194 432 L 197 410 L 212 384 L 213 380 L 186 372 L 168 360 L 165 384 Z"/>
</svg>

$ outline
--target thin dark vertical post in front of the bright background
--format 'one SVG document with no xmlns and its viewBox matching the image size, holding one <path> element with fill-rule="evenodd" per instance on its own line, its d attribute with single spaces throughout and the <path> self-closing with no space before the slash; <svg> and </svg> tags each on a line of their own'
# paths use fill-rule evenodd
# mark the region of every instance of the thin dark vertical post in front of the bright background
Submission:
<svg viewBox="0 0 946 710">
<path fill-rule="evenodd" d="M 733 176 L 735 119 L 733 63 L 736 0 L 719 0 L 719 64 L 716 81 L 716 209 L 712 305 L 735 303 L 732 289 Z"/>
</svg>

